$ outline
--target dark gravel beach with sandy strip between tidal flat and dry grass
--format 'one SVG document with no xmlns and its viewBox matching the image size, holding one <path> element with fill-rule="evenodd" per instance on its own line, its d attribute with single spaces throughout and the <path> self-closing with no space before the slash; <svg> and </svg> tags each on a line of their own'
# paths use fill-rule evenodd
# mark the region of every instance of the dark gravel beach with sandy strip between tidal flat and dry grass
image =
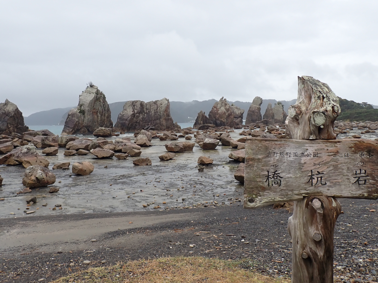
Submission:
<svg viewBox="0 0 378 283">
<path fill-rule="evenodd" d="M 376 282 L 378 203 L 339 201 L 344 213 L 335 227 L 335 282 Z M 247 210 L 234 204 L 3 219 L 0 281 L 48 282 L 88 266 L 174 255 L 242 259 L 244 268 L 290 278 L 290 215 L 271 206 Z"/>
</svg>

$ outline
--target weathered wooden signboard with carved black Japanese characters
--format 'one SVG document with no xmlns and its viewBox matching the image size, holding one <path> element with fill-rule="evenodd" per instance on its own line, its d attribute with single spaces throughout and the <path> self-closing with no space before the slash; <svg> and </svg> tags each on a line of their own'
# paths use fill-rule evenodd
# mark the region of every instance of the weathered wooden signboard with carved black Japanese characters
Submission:
<svg viewBox="0 0 378 283">
<path fill-rule="evenodd" d="M 378 198 L 378 142 L 253 138 L 245 145 L 244 208 L 312 195 Z"/>
</svg>

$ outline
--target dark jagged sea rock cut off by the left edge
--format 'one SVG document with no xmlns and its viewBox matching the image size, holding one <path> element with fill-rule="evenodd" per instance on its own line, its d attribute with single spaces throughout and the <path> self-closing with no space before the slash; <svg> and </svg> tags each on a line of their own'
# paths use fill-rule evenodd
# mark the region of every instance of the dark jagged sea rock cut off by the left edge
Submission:
<svg viewBox="0 0 378 283">
<path fill-rule="evenodd" d="M 29 131 L 25 126 L 22 112 L 17 105 L 8 99 L 4 103 L 0 103 L 0 135 L 11 135 L 13 132 L 22 134 Z"/>
</svg>

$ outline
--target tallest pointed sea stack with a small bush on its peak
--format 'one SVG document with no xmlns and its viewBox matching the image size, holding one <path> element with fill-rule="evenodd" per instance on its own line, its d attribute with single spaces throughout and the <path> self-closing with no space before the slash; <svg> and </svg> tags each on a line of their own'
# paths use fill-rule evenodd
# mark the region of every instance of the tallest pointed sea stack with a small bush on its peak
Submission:
<svg viewBox="0 0 378 283">
<path fill-rule="evenodd" d="M 93 134 L 100 127 L 113 128 L 110 108 L 102 91 L 90 84 L 68 112 L 62 135 Z"/>
</svg>

